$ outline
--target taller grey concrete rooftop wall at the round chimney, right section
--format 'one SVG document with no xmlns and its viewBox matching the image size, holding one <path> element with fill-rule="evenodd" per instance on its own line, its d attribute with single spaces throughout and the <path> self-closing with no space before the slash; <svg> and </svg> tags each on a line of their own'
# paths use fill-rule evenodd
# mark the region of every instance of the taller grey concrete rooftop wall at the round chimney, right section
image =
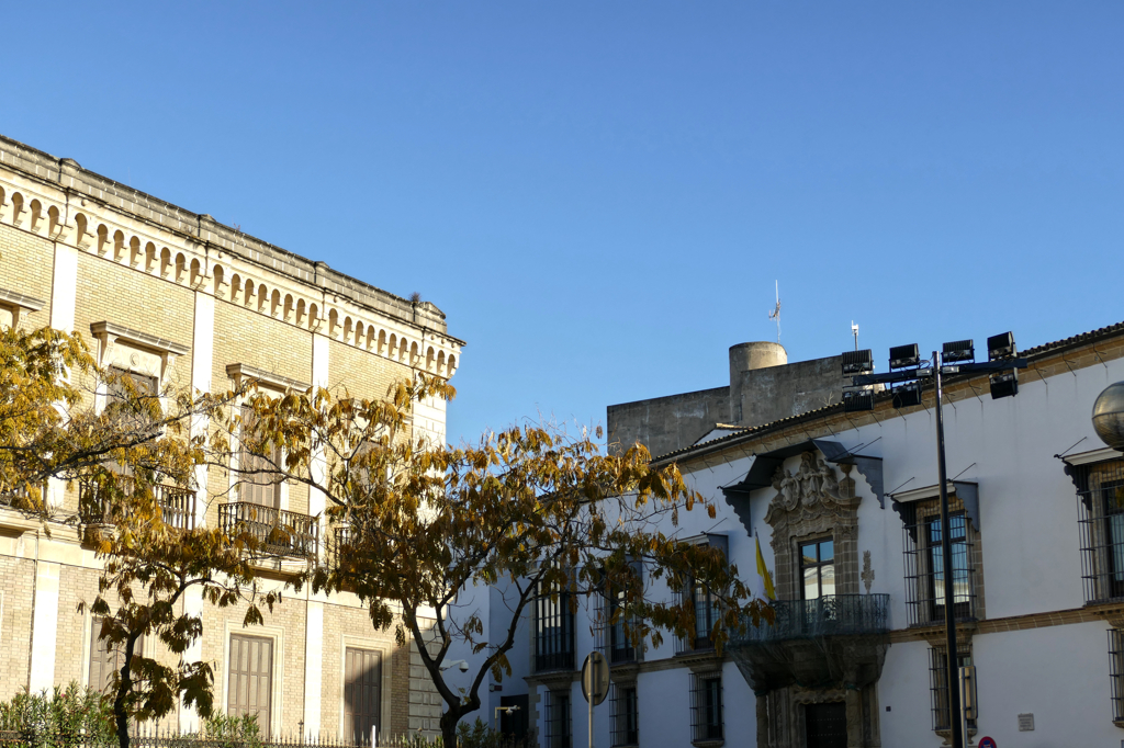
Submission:
<svg viewBox="0 0 1124 748">
<path fill-rule="evenodd" d="M 742 372 L 737 425 L 761 426 L 839 402 L 850 384 L 841 366 L 841 356 L 828 356 Z"/>
</svg>

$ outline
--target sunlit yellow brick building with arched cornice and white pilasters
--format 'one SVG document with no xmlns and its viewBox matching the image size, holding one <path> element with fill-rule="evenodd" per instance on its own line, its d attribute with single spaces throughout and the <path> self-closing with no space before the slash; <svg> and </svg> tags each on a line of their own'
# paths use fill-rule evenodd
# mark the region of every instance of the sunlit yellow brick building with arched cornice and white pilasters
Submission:
<svg viewBox="0 0 1124 748">
<path fill-rule="evenodd" d="M 429 302 L 396 297 L 3 137 L 0 325 L 81 332 L 100 364 L 200 392 L 251 376 L 279 391 L 346 386 L 380 398 L 416 372 L 451 377 L 464 345 Z M 419 407 L 413 428 L 443 440 L 444 403 Z M 184 521 L 214 526 L 237 509 L 228 481 L 200 468 L 197 484 L 206 491 L 169 500 Z M 78 491 L 52 484 L 48 500 L 73 513 Z M 323 557 L 323 495 L 281 484 L 256 501 L 257 511 L 305 527 L 303 541 L 290 549 L 293 564 Z M 97 592 L 101 562 L 75 527 L 48 529 L 0 505 L 0 699 L 72 681 L 98 685 L 115 657 L 101 650 L 89 612 L 78 612 Z M 268 583 L 284 584 L 280 566 Z M 256 710 L 272 735 L 437 730 L 441 701 L 417 653 L 399 648 L 391 631 L 375 631 L 354 596 L 287 594 L 264 626 L 251 628 L 242 626 L 244 610 L 216 612 L 198 596 L 183 604 L 205 611 L 203 637 L 185 657 L 212 664 L 216 704 Z M 239 695 L 246 683 L 259 687 L 253 704 Z M 196 726 L 189 710 L 165 721 Z"/>
</svg>

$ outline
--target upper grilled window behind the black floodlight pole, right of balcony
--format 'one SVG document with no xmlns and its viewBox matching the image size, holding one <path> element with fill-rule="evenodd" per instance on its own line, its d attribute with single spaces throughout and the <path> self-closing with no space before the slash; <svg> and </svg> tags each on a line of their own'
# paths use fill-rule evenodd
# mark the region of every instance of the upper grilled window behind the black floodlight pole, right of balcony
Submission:
<svg viewBox="0 0 1124 748">
<path fill-rule="evenodd" d="M 906 611 L 910 626 L 944 622 L 944 526 L 935 502 L 899 508 L 905 519 Z M 963 510 L 949 513 L 952 541 L 952 611 L 957 620 L 978 615 L 976 594 L 976 528 Z"/>
</svg>

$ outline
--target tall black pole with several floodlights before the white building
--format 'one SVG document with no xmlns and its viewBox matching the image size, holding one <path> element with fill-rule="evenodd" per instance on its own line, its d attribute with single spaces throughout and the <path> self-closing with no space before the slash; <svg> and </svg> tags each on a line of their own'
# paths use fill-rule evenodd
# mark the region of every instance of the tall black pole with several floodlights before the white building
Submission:
<svg viewBox="0 0 1124 748">
<path fill-rule="evenodd" d="M 975 363 L 976 348 L 971 340 L 945 343 L 942 352 L 939 354 L 934 350 L 933 357 L 928 362 L 922 362 L 916 350 L 917 346 L 915 345 L 890 348 L 890 367 L 895 371 L 890 371 L 887 374 L 865 372 L 855 374 L 853 372 L 856 367 L 854 365 L 847 366 L 847 356 L 854 356 L 854 354 L 850 352 L 844 353 L 843 376 L 851 376 L 851 384 L 855 387 L 852 392 L 859 389 L 862 389 L 864 392 L 871 392 L 869 387 L 876 384 L 901 383 L 903 386 L 897 387 L 894 395 L 895 407 L 899 408 L 903 405 L 898 403 L 906 402 L 907 398 L 909 404 L 921 404 L 922 383 L 927 378 L 933 380 L 933 390 L 936 395 L 936 475 L 940 483 L 937 491 L 941 496 L 941 551 L 944 556 L 944 628 L 948 635 L 948 658 L 945 660 L 948 677 L 945 677 L 945 685 L 949 688 L 949 731 L 952 735 L 952 748 L 963 748 L 966 736 L 962 731 L 963 723 L 960 719 L 959 678 L 953 677 L 953 674 L 958 673 L 955 666 L 958 654 L 957 619 L 955 605 L 953 604 L 952 531 L 949 526 L 949 487 L 944 465 L 944 414 L 942 409 L 941 375 L 980 374 L 987 372 L 991 378 L 991 396 L 995 399 L 1006 398 L 1018 392 L 1018 380 L 1014 378 L 1015 372 L 1026 367 L 1026 359 L 1016 357 L 1015 338 L 1010 332 L 988 338 L 989 361 L 986 363 Z M 870 352 L 864 353 L 869 355 Z M 952 364 L 951 366 L 948 365 L 950 363 Z M 873 372 L 873 364 L 871 363 L 865 371 Z M 998 387 L 999 394 L 997 394 L 996 378 L 1008 374 L 1014 380 L 1014 386 L 1009 386 L 1009 384 L 1006 384 L 1008 381 L 1003 380 Z M 1007 390 L 1004 390 L 1005 386 Z M 916 403 L 913 402 L 914 398 L 916 398 Z M 854 400 L 858 401 L 856 395 Z M 844 411 L 851 410 L 846 405 L 846 393 L 844 393 L 843 402 Z M 871 392 L 870 407 L 864 408 L 864 410 L 873 410 L 873 393 Z"/>
</svg>

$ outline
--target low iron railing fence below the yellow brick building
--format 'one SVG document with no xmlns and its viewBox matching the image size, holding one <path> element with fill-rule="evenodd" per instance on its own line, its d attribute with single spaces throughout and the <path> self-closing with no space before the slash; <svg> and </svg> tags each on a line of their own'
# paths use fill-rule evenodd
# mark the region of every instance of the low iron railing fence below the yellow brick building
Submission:
<svg viewBox="0 0 1124 748">
<path fill-rule="evenodd" d="M 534 736 L 516 738 L 513 736 L 489 735 L 484 745 L 488 748 L 537 748 Z M 117 737 L 100 737 L 71 732 L 65 735 L 54 732 L 0 730 L 0 748 L 116 748 Z M 464 744 L 461 742 L 460 746 Z M 337 737 L 315 737 L 290 735 L 277 738 L 257 737 L 215 737 L 197 733 L 180 733 L 174 730 L 149 730 L 142 726 L 135 735 L 129 736 L 132 748 L 439 748 L 441 738 L 425 737 L 419 733 L 381 735 L 375 733 L 373 740 L 356 742 Z"/>
</svg>

